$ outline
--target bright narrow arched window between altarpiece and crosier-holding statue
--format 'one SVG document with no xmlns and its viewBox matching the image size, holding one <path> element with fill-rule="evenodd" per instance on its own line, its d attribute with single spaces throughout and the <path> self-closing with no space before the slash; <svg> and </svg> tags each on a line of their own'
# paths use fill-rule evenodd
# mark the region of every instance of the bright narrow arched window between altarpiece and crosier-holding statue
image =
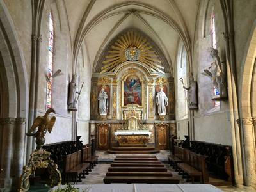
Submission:
<svg viewBox="0 0 256 192">
<path fill-rule="evenodd" d="M 188 118 L 188 103 L 186 99 L 186 94 L 183 89 L 183 84 L 179 79 L 183 79 L 184 86 L 187 84 L 187 52 L 184 44 L 179 46 L 179 55 L 177 60 L 177 120 L 182 120 Z"/>
</svg>

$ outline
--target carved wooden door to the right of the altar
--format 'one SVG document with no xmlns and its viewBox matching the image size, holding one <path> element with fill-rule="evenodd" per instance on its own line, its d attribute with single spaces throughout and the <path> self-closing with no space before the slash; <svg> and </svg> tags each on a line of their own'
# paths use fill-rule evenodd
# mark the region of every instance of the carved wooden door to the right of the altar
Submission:
<svg viewBox="0 0 256 192">
<path fill-rule="evenodd" d="M 158 124 L 156 127 L 157 148 L 168 150 L 168 124 Z"/>
</svg>

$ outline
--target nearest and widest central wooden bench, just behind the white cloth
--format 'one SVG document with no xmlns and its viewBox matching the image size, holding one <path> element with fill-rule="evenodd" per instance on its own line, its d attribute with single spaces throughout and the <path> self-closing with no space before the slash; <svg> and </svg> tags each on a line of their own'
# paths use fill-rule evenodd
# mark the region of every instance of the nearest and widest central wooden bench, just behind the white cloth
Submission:
<svg viewBox="0 0 256 192">
<path fill-rule="evenodd" d="M 111 183 L 147 183 L 147 184 L 177 184 L 179 179 L 173 179 L 173 177 L 141 177 L 141 176 L 106 176 L 103 179 L 104 184 Z"/>
</svg>

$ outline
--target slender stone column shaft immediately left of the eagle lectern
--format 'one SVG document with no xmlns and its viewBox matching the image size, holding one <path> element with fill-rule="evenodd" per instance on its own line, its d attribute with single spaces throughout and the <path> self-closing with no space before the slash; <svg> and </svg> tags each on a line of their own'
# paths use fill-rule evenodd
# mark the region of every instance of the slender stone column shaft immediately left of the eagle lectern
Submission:
<svg viewBox="0 0 256 192">
<path fill-rule="evenodd" d="M 19 182 L 20 175 L 22 174 L 23 159 L 24 159 L 24 141 L 26 132 L 26 118 L 17 118 L 15 127 L 15 180 Z M 18 184 L 18 183 L 17 183 Z"/>
</svg>

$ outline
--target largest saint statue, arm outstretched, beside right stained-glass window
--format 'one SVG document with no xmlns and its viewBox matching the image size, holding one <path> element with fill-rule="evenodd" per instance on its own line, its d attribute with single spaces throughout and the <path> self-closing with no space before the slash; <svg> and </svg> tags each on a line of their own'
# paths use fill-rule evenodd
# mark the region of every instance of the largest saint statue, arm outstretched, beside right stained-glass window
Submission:
<svg viewBox="0 0 256 192">
<path fill-rule="evenodd" d="M 218 56 L 218 50 L 212 48 L 211 50 L 212 63 L 211 66 L 204 70 L 207 76 L 211 77 L 212 84 L 220 97 L 227 97 L 227 85 L 225 80 L 225 66 L 221 65 L 220 57 Z"/>
</svg>

